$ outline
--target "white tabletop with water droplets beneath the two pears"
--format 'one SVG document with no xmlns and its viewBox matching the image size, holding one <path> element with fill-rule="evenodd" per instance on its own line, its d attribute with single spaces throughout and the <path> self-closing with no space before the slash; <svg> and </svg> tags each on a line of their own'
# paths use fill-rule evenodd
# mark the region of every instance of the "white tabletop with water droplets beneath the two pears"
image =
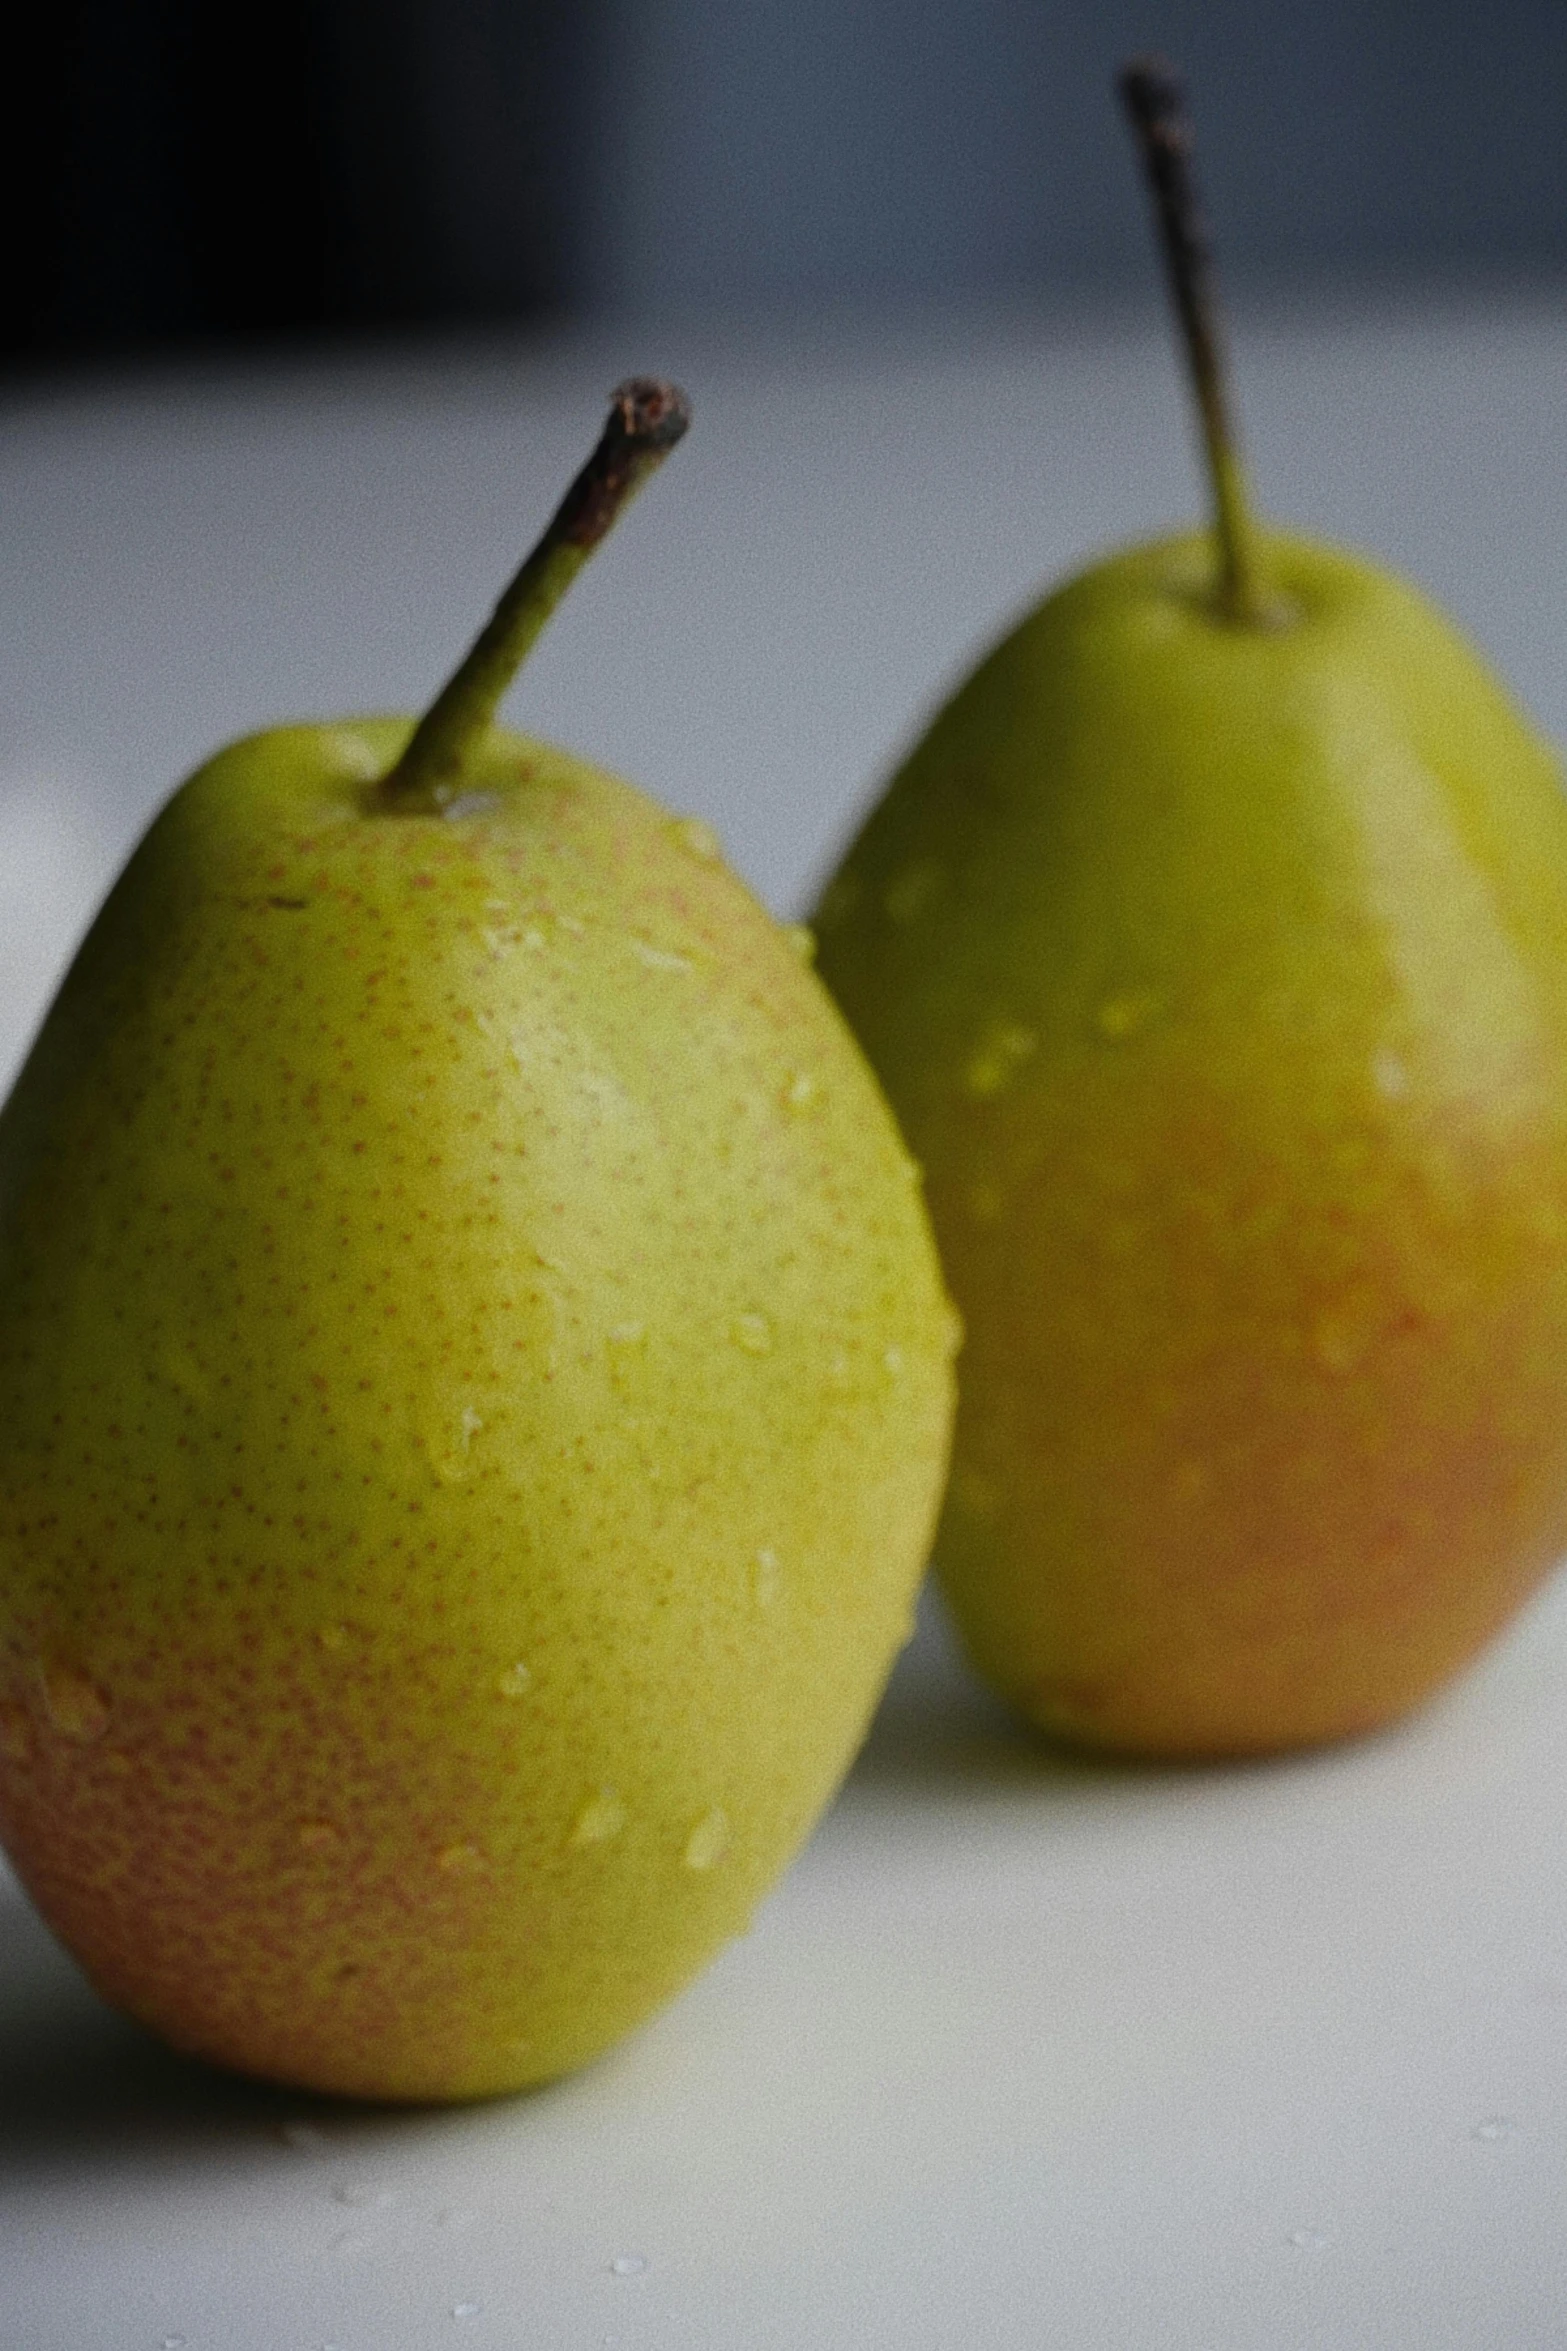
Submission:
<svg viewBox="0 0 1567 2351">
<path fill-rule="evenodd" d="M 1567 329 L 1238 336 L 1273 513 L 1374 545 L 1567 734 Z M 0 1056 L 218 736 L 458 651 L 625 364 L 698 428 L 512 712 L 799 903 L 1041 576 L 1193 505 L 1163 336 L 533 353 L 12 407 Z M 5 2351 L 1560 2351 L 1567 1587 L 1405 1730 L 1052 1756 L 928 1620 L 754 1933 L 634 2043 L 453 2114 L 186 2067 L 0 1881 Z"/>
</svg>

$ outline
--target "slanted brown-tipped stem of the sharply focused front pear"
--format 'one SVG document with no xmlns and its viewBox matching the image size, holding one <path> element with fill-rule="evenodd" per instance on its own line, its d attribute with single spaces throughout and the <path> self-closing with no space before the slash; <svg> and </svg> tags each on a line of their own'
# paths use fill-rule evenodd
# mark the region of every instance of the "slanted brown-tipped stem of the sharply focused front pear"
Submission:
<svg viewBox="0 0 1567 2351">
<path fill-rule="evenodd" d="M 463 790 L 463 762 L 489 729 L 500 696 L 540 628 L 641 484 L 691 423 L 674 383 L 632 376 L 608 407 L 599 444 L 561 498 L 543 538 L 413 729 L 397 766 L 376 785 L 395 816 L 439 816 Z"/>
</svg>

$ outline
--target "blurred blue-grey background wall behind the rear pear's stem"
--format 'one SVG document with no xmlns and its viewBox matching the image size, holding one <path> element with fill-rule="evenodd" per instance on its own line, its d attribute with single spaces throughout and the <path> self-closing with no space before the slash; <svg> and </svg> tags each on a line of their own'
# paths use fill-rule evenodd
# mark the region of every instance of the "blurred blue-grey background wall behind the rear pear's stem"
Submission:
<svg viewBox="0 0 1567 2351">
<path fill-rule="evenodd" d="M 592 303 L 1076 294 L 1146 268 L 1114 63 L 1189 73 L 1250 275 L 1560 268 L 1560 0 L 606 0 Z"/>
</svg>

